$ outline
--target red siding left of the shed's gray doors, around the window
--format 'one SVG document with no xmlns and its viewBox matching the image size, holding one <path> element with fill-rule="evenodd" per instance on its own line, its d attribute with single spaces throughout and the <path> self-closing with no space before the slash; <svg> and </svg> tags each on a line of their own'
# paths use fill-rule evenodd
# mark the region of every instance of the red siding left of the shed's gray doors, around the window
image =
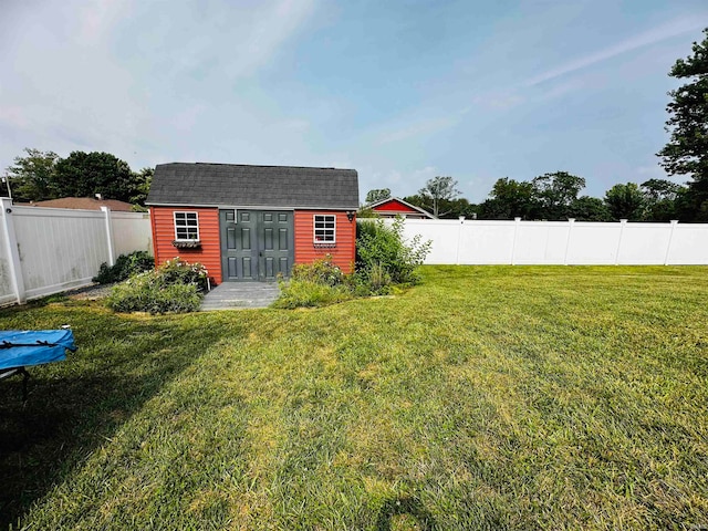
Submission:
<svg viewBox="0 0 708 531">
<path fill-rule="evenodd" d="M 199 249 L 177 249 L 174 212 L 198 212 Z M 221 247 L 219 244 L 219 209 L 188 207 L 150 207 L 155 263 L 180 257 L 188 262 L 201 262 L 217 283 L 221 283 Z"/>
</svg>

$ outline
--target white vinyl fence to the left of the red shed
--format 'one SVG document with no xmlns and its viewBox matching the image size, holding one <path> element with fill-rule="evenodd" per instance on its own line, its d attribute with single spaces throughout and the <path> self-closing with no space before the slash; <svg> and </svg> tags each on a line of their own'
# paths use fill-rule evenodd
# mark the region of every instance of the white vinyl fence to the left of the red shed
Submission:
<svg viewBox="0 0 708 531">
<path fill-rule="evenodd" d="M 148 214 L 0 202 L 0 304 L 87 285 L 103 262 L 153 252 Z"/>
</svg>

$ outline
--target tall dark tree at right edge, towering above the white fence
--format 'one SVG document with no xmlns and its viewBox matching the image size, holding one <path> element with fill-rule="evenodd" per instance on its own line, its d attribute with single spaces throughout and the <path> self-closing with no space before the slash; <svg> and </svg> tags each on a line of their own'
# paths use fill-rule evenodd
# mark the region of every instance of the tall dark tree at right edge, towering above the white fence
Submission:
<svg viewBox="0 0 708 531">
<path fill-rule="evenodd" d="M 694 42 L 694 54 L 676 61 L 668 75 L 688 82 L 668 93 L 668 144 L 657 153 L 669 175 L 693 180 L 683 199 L 688 220 L 708 220 L 708 28 L 702 42 Z"/>
</svg>

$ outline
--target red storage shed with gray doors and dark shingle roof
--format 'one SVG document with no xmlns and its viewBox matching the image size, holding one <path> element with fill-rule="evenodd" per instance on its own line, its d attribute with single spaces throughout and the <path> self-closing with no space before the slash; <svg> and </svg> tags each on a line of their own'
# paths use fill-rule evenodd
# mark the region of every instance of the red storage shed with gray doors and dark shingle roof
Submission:
<svg viewBox="0 0 708 531">
<path fill-rule="evenodd" d="M 354 264 L 354 169 L 160 164 L 146 205 L 155 263 L 201 262 L 217 283 L 272 281 L 326 254 Z"/>
</svg>

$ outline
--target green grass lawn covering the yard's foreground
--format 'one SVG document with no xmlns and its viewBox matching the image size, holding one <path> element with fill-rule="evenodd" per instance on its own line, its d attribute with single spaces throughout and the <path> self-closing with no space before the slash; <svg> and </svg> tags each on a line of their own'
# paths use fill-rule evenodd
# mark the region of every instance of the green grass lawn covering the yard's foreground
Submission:
<svg viewBox="0 0 708 531">
<path fill-rule="evenodd" d="M 708 268 L 428 267 L 393 298 L 118 315 L 0 382 L 0 527 L 706 529 Z"/>
</svg>

